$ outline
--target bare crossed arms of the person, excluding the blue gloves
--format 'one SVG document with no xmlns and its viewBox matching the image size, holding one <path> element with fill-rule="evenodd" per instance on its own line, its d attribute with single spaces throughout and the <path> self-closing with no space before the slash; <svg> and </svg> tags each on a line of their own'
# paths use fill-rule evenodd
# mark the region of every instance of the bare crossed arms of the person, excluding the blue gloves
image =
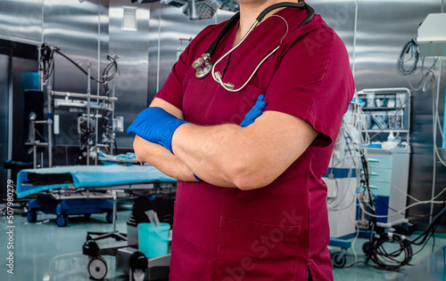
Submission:
<svg viewBox="0 0 446 281">
<path fill-rule="evenodd" d="M 155 98 L 151 107 L 183 119 L 181 110 L 165 100 Z M 133 146 L 139 162 L 178 180 L 196 181 L 196 174 L 216 186 L 249 190 L 276 180 L 317 136 L 318 131 L 301 118 L 266 111 L 246 127 L 181 124 L 171 139 L 175 155 L 137 135 Z"/>
</svg>

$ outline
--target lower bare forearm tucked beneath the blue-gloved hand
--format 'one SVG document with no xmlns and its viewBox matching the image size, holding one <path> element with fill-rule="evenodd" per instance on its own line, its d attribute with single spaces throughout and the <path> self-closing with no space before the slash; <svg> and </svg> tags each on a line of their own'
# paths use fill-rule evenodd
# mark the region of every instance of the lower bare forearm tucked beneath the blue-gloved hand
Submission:
<svg viewBox="0 0 446 281">
<path fill-rule="evenodd" d="M 161 145 L 145 141 L 136 135 L 133 148 L 139 162 L 149 163 L 179 181 L 197 181 L 189 168 Z"/>
</svg>

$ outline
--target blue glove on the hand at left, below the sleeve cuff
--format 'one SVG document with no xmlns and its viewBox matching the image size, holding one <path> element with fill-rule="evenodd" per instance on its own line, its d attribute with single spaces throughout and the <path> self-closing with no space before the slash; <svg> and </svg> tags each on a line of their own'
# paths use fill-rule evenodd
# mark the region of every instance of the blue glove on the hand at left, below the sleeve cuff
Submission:
<svg viewBox="0 0 446 281">
<path fill-rule="evenodd" d="M 188 123 L 162 108 L 145 108 L 130 126 L 127 133 L 135 133 L 145 141 L 161 144 L 172 152 L 172 136 L 178 126 Z"/>
</svg>

